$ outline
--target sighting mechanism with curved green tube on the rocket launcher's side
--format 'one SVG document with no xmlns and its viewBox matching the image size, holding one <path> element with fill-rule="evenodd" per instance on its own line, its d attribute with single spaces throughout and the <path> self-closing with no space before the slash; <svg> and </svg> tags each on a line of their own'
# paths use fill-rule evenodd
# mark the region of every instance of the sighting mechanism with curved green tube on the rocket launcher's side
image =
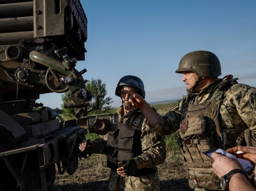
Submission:
<svg viewBox="0 0 256 191">
<path fill-rule="evenodd" d="M 64 47 L 60 50 L 54 51 L 63 62 L 58 61 L 49 56 L 43 55 L 36 51 L 32 51 L 29 55 L 30 59 L 36 61 L 40 64 L 43 64 L 48 68 L 46 73 L 46 85 L 47 87 L 55 93 L 63 93 L 70 90 L 70 102 L 64 103 L 64 108 L 79 108 L 76 110 L 76 117 L 81 118 L 82 116 L 87 115 L 86 107 L 91 107 L 93 110 L 99 109 L 99 97 L 96 95 L 91 95 L 91 91 L 86 90 L 85 83 L 87 80 L 84 80 L 82 74 L 87 72 L 86 69 L 78 72 L 75 69 L 77 60 L 76 58 L 70 59 L 67 56 L 67 48 Z M 66 77 L 60 77 L 56 71 L 67 75 Z M 61 81 L 61 83 L 66 87 L 63 90 L 53 90 L 50 87 L 48 82 L 49 73 L 52 73 L 56 81 Z M 82 112 L 81 112 L 82 111 Z M 80 115 L 79 115 L 80 114 Z"/>
</svg>

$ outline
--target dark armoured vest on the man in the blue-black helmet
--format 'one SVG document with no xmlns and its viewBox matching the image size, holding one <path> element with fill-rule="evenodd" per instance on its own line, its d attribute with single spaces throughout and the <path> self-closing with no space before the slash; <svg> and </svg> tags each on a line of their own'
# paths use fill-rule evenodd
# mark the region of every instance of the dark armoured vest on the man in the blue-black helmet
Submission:
<svg viewBox="0 0 256 191">
<path fill-rule="evenodd" d="M 107 140 L 107 166 L 112 172 L 117 171 L 123 164 L 118 164 L 126 159 L 132 159 L 141 155 L 141 127 L 144 121 L 144 115 L 138 113 L 125 123 L 119 123 L 117 118 L 117 130 L 108 132 Z M 133 176 L 142 176 L 154 174 L 156 170 L 152 168 L 138 169 Z"/>
</svg>

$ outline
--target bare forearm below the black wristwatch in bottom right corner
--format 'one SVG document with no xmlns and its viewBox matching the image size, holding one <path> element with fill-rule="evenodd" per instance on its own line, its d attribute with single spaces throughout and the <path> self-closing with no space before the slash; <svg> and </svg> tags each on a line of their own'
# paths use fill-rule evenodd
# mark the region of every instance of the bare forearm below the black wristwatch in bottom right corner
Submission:
<svg viewBox="0 0 256 191">
<path fill-rule="evenodd" d="M 241 173 L 234 174 L 230 178 L 229 191 L 255 191 L 256 189 L 249 183 L 245 175 Z"/>
</svg>

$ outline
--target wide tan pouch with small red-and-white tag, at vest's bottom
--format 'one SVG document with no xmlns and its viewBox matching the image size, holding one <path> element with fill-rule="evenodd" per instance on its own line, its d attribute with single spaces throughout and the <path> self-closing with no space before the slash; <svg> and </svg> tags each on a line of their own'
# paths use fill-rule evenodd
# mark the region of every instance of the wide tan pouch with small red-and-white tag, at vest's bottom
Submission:
<svg viewBox="0 0 256 191">
<path fill-rule="evenodd" d="M 212 164 L 185 162 L 183 167 L 185 169 L 186 178 L 189 180 L 190 188 L 222 190 L 220 180 L 214 173 Z"/>
</svg>

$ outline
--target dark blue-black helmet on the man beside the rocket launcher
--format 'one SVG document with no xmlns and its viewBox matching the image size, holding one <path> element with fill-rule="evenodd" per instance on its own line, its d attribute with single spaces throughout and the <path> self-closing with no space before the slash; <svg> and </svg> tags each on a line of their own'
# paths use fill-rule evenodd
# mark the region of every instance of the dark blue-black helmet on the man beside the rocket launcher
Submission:
<svg viewBox="0 0 256 191">
<path fill-rule="evenodd" d="M 122 77 L 116 87 L 115 95 L 121 97 L 121 89 L 124 86 L 131 86 L 135 88 L 136 93 L 145 98 L 145 90 L 143 81 L 136 76 L 124 76 Z"/>
</svg>

